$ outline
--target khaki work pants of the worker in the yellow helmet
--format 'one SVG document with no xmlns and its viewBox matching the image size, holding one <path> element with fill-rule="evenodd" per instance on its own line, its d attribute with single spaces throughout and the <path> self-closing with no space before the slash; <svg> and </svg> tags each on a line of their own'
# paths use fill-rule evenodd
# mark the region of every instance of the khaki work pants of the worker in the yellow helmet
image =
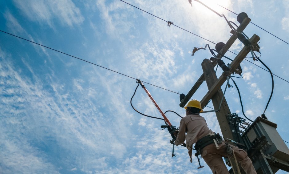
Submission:
<svg viewBox="0 0 289 174">
<path fill-rule="evenodd" d="M 247 152 L 243 149 L 239 149 L 236 146 L 230 145 L 234 150 L 236 160 L 240 162 L 241 167 L 247 174 L 257 174 L 255 168 L 253 167 L 252 161 L 247 156 Z M 216 148 L 216 145 L 209 144 L 208 146 L 204 147 L 202 150 L 202 158 L 211 168 L 214 174 L 225 173 L 229 174 L 227 167 L 224 164 L 222 157 L 228 157 L 228 153 L 226 151 L 227 147 L 224 142 L 219 144 L 219 149 Z"/>
</svg>

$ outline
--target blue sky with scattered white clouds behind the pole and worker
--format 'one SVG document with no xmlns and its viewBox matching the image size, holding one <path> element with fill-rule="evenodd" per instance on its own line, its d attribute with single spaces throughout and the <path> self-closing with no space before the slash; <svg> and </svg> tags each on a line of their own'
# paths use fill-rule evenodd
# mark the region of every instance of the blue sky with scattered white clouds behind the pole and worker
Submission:
<svg viewBox="0 0 289 174">
<path fill-rule="evenodd" d="M 197 2 L 192 7 L 186 0 L 126 2 L 215 43 L 230 38 L 224 18 Z M 235 14 L 213 1 L 203 2 L 237 23 Z M 236 13 L 246 12 L 252 22 L 289 41 L 288 0 L 215 2 Z M 203 72 L 201 62 L 211 57 L 208 50 L 191 56 L 193 47 L 204 47 L 208 41 L 119 0 L 11 0 L 1 1 L 0 9 L 3 31 L 175 92 L 187 94 Z M 244 32 L 249 37 L 259 35 L 260 59 L 275 75 L 289 81 L 289 45 L 253 24 Z M 230 51 L 238 53 L 242 47 L 236 41 Z M 232 53 L 226 55 L 234 58 Z M 130 106 L 135 79 L 3 32 L 0 62 L 1 173 L 211 172 L 207 165 L 198 170 L 197 159 L 191 164 L 184 147 L 176 147 L 177 156 L 171 157 L 170 135 L 160 131 L 164 123 Z M 235 81 L 245 113 L 254 120 L 267 104 L 271 77 L 246 60 L 241 66 L 243 79 Z M 185 115 L 178 94 L 145 86 L 163 111 Z M 286 141 L 288 87 L 288 82 L 274 76 L 274 93 L 265 113 Z M 193 98 L 200 100 L 207 91 L 203 83 Z M 243 117 L 236 87 L 227 89 L 225 97 L 231 112 Z M 133 105 L 145 114 L 161 116 L 141 88 Z M 220 132 L 214 113 L 202 116 L 212 130 Z M 180 117 L 173 113 L 167 117 L 178 126 Z"/>
</svg>

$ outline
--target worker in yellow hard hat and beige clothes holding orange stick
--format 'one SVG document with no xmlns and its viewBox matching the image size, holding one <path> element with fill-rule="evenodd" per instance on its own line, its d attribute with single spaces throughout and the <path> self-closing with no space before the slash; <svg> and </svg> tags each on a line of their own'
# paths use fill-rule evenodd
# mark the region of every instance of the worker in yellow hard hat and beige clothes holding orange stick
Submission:
<svg viewBox="0 0 289 174">
<path fill-rule="evenodd" d="M 247 152 L 233 145 L 225 144 L 222 142 L 219 134 L 208 128 L 206 120 L 200 116 L 200 112 L 203 112 L 203 110 L 198 100 L 191 100 L 184 108 L 186 109 L 186 116 L 180 120 L 180 129 L 179 132 L 176 132 L 177 138 L 174 143 L 178 146 L 186 140 L 186 147 L 188 148 L 191 163 L 192 145 L 196 143 L 195 149 L 197 150 L 197 154 L 203 157 L 214 174 L 229 174 L 222 157 L 228 157 L 228 155 L 232 154 L 233 150 L 243 170 L 247 174 L 257 174 L 252 161 L 247 156 Z M 214 140 L 218 144 L 215 144 Z M 219 149 L 217 149 L 217 146 Z"/>
</svg>

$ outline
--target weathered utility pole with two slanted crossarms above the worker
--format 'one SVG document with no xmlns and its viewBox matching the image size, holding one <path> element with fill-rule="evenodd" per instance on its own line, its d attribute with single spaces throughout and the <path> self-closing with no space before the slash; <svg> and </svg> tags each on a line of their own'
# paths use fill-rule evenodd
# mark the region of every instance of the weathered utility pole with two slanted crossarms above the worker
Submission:
<svg viewBox="0 0 289 174">
<path fill-rule="evenodd" d="M 238 27 L 237 31 L 242 32 L 245 29 L 245 27 L 249 24 L 250 21 L 251 21 L 250 18 L 248 17 L 244 18 L 242 23 Z M 232 44 L 236 41 L 236 39 L 237 39 L 237 35 L 233 34 L 231 38 L 229 38 L 228 42 L 226 42 L 224 47 L 220 50 L 216 58 L 221 59 L 223 55 L 225 55 L 225 53 L 232 46 Z M 259 39 L 260 38 L 257 35 L 255 34 L 253 35 L 253 37 L 250 39 L 253 47 L 257 44 Z M 204 59 L 204 61 L 201 64 L 204 73 L 201 75 L 201 77 L 198 79 L 198 81 L 195 83 L 192 89 L 188 92 L 184 100 L 180 103 L 180 107 L 184 107 L 185 104 L 188 102 L 188 100 L 192 97 L 192 95 L 196 92 L 196 90 L 203 83 L 203 81 L 206 81 L 209 91 L 201 100 L 201 106 L 204 108 L 204 106 L 208 104 L 210 99 L 212 99 L 212 103 L 215 109 L 219 109 L 219 106 L 220 106 L 220 110 L 216 112 L 217 120 L 219 122 L 222 135 L 225 138 L 229 138 L 231 140 L 234 140 L 234 136 L 229 126 L 229 121 L 226 118 L 227 115 L 231 114 L 231 111 L 228 107 L 225 97 L 223 96 L 224 94 L 223 94 L 223 91 L 221 90 L 221 86 L 227 80 L 227 76 L 231 75 L 234 72 L 234 70 L 240 65 L 242 60 L 246 57 L 246 55 L 249 52 L 250 52 L 250 48 L 248 48 L 247 46 L 244 46 L 243 49 L 240 51 L 240 53 L 236 56 L 236 58 L 230 64 L 231 70 L 229 72 L 226 72 L 226 75 L 223 73 L 219 77 L 219 79 L 217 79 L 216 73 L 214 71 L 214 67 L 217 64 L 216 59 L 215 61 L 212 61 L 212 62 L 208 59 Z M 237 164 L 236 159 L 229 158 L 229 160 L 232 165 L 232 170 L 235 174 L 236 173 L 240 174 L 241 172 L 243 173 L 243 170 L 240 171 L 240 168 L 239 168 L 239 165 Z"/>
</svg>

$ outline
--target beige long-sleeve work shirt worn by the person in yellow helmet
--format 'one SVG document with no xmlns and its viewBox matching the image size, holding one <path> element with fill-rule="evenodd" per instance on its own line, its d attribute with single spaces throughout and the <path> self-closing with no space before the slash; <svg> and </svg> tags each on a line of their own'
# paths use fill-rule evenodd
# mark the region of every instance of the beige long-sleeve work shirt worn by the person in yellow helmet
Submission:
<svg viewBox="0 0 289 174">
<path fill-rule="evenodd" d="M 204 136 L 209 135 L 210 132 L 212 132 L 212 130 L 208 128 L 204 117 L 198 114 L 187 115 L 180 120 L 179 133 L 175 140 L 175 144 L 178 146 L 183 144 L 186 140 L 186 147 L 189 151 L 192 162 L 192 145 Z"/>
</svg>

